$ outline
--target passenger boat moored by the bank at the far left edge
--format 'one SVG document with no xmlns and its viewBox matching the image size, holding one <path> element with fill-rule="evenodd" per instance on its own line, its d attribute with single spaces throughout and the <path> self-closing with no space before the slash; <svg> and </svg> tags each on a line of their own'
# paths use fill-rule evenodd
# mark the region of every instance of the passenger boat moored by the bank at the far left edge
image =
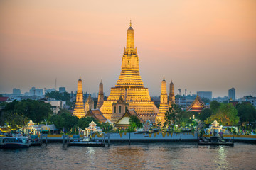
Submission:
<svg viewBox="0 0 256 170">
<path fill-rule="evenodd" d="M 28 137 L 0 137 L 0 148 L 28 148 L 31 142 Z"/>
</svg>

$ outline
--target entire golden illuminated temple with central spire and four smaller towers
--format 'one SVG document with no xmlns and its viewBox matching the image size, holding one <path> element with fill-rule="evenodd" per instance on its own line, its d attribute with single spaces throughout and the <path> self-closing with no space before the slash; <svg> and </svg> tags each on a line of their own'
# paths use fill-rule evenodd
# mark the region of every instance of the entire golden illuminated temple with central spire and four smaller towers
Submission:
<svg viewBox="0 0 256 170">
<path fill-rule="evenodd" d="M 171 103 L 175 102 L 174 84 L 171 81 L 170 94 L 167 96 L 165 79 L 161 84 L 161 102 L 157 108 L 149 95 L 149 89 L 143 84 L 139 74 L 139 56 L 137 47 L 134 46 L 134 29 L 130 22 L 127 30 L 127 45 L 124 47 L 122 56 L 121 74 L 117 84 L 110 89 L 110 96 L 104 101 L 103 84 L 100 82 L 99 96 L 96 109 L 93 104 L 89 105 L 88 100 L 83 106 L 82 102 L 82 80 L 78 80 L 78 93 L 73 115 L 82 118 L 83 116 L 94 115 L 101 116 L 112 123 L 129 111 L 136 113 L 144 122 L 150 120 L 151 123 L 164 123 L 164 115 L 168 111 Z M 88 107 L 89 106 L 89 107 Z M 85 111 L 87 108 L 87 111 Z"/>
</svg>

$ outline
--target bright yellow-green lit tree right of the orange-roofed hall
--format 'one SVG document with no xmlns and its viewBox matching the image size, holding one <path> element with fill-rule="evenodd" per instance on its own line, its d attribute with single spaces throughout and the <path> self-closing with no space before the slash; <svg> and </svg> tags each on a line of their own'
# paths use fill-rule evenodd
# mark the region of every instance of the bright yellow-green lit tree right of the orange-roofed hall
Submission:
<svg viewBox="0 0 256 170">
<path fill-rule="evenodd" d="M 217 120 L 220 125 L 237 125 L 239 121 L 238 111 L 231 103 L 222 103 L 218 111 L 213 113 L 213 115 L 206 120 L 206 123 L 213 123 L 214 120 Z"/>
</svg>

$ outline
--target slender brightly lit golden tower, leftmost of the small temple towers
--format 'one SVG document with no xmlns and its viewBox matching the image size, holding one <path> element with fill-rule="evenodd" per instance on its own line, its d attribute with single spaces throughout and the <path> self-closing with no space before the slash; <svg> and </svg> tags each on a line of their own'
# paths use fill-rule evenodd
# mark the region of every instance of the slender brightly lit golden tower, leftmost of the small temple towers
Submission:
<svg viewBox="0 0 256 170">
<path fill-rule="evenodd" d="M 78 80 L 78 91 L 75 101 L 75 109 L 73 111 L 73 115 L 77 116 L 78 118 L 82 118 L 85 116 L 85 107 L 82 98 L 82 80 L 80 76 Z"/>
</svg>

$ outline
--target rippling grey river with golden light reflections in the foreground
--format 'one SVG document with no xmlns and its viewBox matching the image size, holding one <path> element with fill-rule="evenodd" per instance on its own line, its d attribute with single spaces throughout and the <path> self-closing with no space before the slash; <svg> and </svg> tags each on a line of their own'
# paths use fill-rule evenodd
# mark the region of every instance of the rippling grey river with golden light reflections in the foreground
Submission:
<svg viewBox="0 0 256 170">
<path fill-rule="evenodd" d="M 113 144 L 110 147 L 1 149 L 0 169 L 256 169 L 256 145 Z"/>
</svg>

